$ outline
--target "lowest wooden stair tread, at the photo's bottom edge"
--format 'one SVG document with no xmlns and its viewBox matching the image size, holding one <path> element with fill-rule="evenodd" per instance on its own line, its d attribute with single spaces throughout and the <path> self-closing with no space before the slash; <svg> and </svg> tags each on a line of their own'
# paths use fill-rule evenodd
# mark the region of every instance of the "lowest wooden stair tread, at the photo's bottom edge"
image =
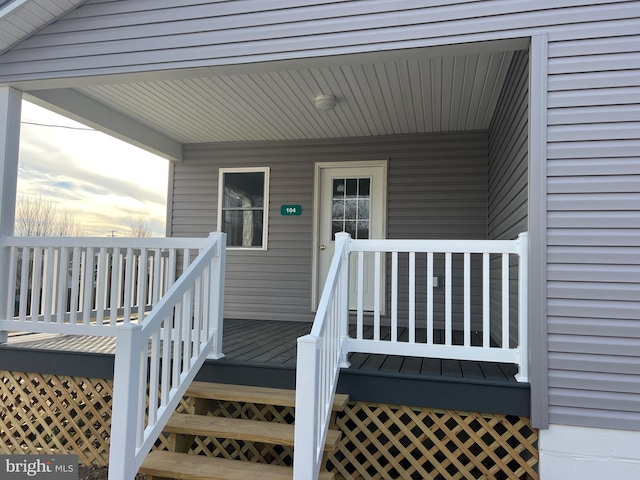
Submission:
<svg viewBox="0 0 640 480">
<path fill-rule="evenodd" d="M 226 458 L 153 451 L 142 462 L 140 473 L 180 480 L 292 480 L 293 469 L 279 465 L 242 462 Z M 320 480 L 332 480 L 332 473 L 320 472 Z"/>
</svg>

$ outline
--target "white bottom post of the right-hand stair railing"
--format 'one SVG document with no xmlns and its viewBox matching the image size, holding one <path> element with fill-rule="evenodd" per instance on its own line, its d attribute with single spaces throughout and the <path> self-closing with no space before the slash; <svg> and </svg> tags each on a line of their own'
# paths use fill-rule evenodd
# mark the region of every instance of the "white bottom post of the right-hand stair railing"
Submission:
<svg viewBox="0 0 640 480">
<path fill-rule="evenodd" d="M 293 478 L 316 480 L 319 466 L 316 460 L 318 421 L 318 339 L 311 335 L 298 338 L 296 365 L 295 448 Z"/>
</svg>

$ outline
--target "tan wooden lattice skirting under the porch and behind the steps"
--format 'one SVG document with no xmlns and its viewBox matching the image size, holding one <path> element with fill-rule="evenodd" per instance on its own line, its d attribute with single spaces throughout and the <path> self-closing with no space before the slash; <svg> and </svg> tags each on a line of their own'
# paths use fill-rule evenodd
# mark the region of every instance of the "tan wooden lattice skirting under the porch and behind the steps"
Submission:
<svg viewBox="0 0 640 480">
<path fill-rule="evenodd" d="M 110 380 L 2 372 L 1 453 L 75 453 L 108 463 Z M 194 408 L 183 401 L 180 409 Z M 291 422 L 293 409 L 215 402 L 211 414 Z M 345 479 L 537 479 L 538 432 L 524 417 L 350 402 L 329 470 Z M 161 437 L 156 448 L 170 448 Z M 288 448 L 196 438 L 193 453 L 290 465 Z"/>
</svg>

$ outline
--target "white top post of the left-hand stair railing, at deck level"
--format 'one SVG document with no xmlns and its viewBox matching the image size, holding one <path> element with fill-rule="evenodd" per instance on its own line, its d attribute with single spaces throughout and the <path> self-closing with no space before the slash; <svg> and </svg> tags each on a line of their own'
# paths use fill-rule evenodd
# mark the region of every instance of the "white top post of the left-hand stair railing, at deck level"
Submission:
<svg viewBox="0 0 640 480">
<path fill-rule="evenodd" d="M 220 359 L 222 353 L 222 334 L 224 327 L 224 280 L 227 256 L 227 234 L 212 232 L 209 234 L 211 241 L 216 241 L 216 253 L 211 261 L 209 271 L 209 335 L 213 335 L 211 353 L 207 358 Z M 210 337 L 211 338 L 211 337 Z"/>
</svg>

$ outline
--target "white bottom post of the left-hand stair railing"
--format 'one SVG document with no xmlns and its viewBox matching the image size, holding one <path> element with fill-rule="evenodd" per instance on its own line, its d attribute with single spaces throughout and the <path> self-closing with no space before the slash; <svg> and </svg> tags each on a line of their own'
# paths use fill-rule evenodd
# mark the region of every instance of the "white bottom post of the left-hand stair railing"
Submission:
<svg viewBox="0 0 640 480">
<path fill-rule="evenodd" d="M 136 465 L 137 426 L 141 368 L 141 325 L 117 327 L 113 373 L 113 410 L 109 445 L 109 480 L 133 480 Z"/>
</svg>

